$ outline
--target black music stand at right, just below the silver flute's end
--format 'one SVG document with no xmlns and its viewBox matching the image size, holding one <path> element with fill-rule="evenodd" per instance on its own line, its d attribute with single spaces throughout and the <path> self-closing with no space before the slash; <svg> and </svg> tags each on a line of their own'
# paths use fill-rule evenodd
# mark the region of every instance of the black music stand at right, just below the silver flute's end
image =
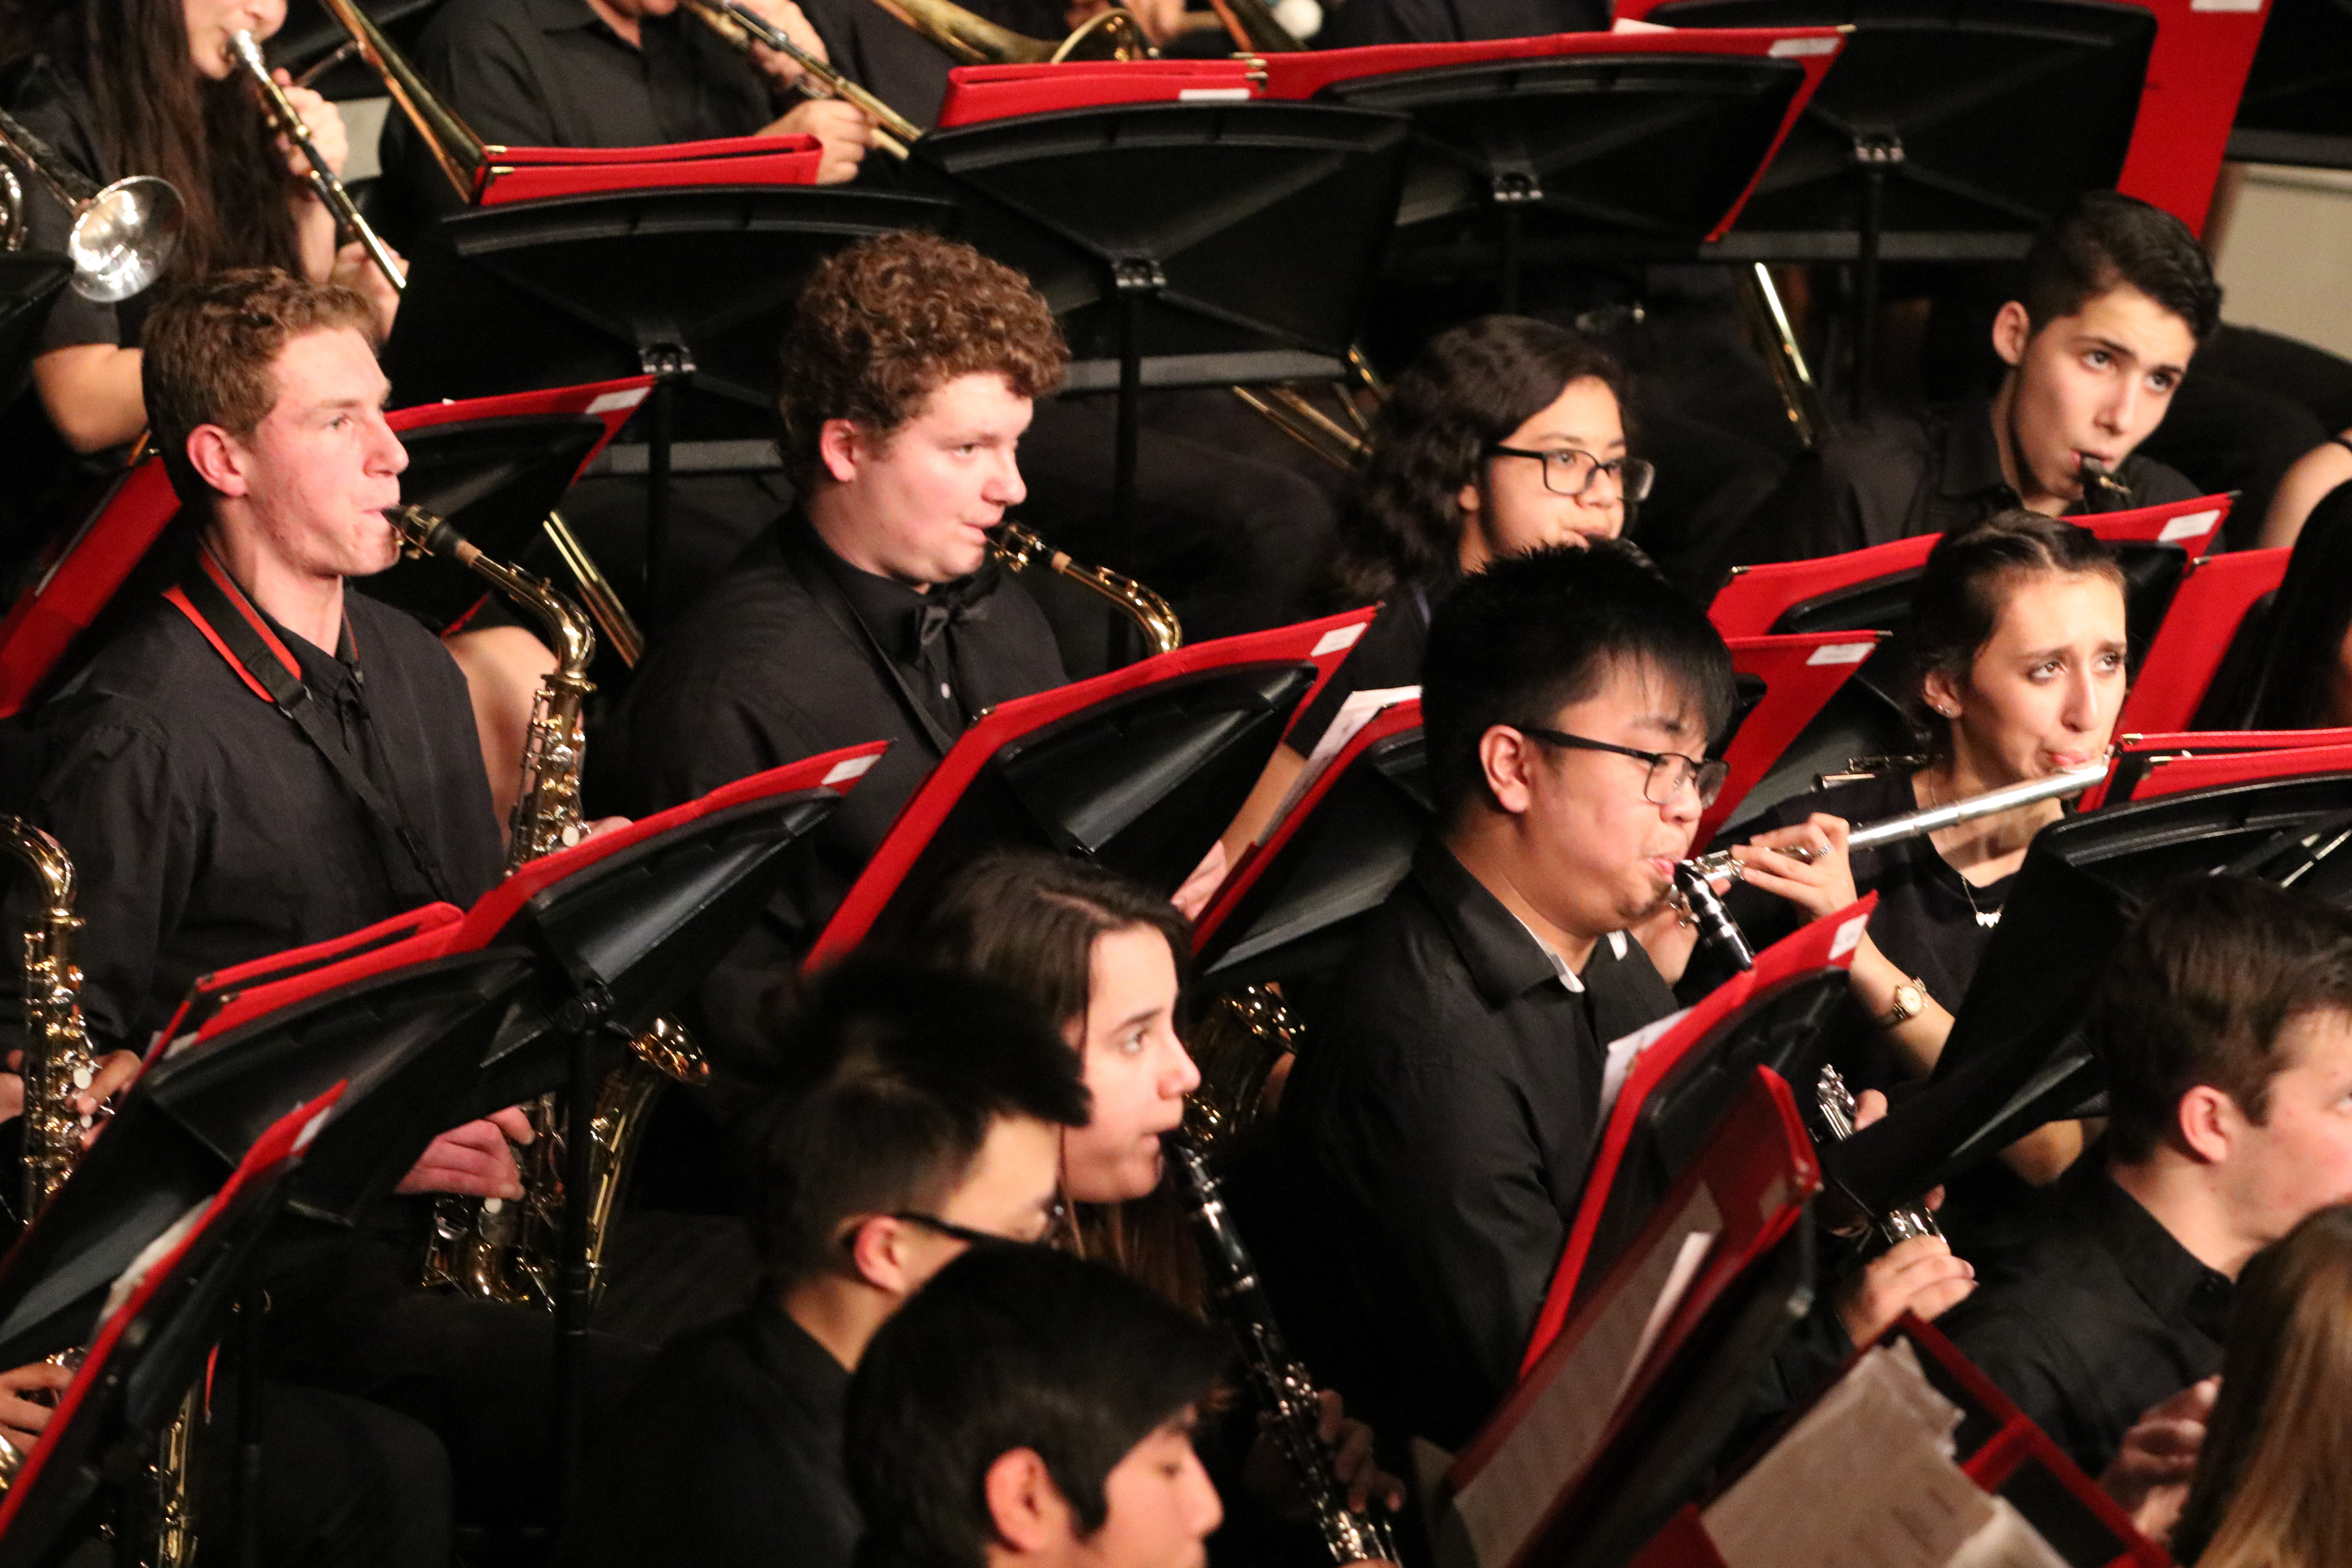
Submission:
<svg viewBox="0 0 2352 1568">
<path fill-rule="evenodd" d="M 2310 849 L 2303 839 L 2319 832 Z M 2044 827 L 2025 851 L 1952 1037 L 1926 1088 L 1823 1150 L 1865 1211 L 1915 1201 L 2105 1088 L 2082 1020 L 2107 954 L 2157 889 L 2216 870 L 2352 903 L 2352 773 L 2279 778 L 2105 806 Z M 2307 863 L 2310 860 L 2310 863 Z"/>
</svg>

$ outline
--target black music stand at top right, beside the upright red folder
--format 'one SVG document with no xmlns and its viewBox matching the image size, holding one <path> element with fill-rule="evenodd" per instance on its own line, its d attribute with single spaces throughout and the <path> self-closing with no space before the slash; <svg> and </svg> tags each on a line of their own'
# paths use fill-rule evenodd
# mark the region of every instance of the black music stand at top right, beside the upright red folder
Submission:
<svg viewBox="0 0 2352 1568">
<path fill-rule="evenodd" d="M 1668 0 L 1679 28 L 1851 26 L 1726 261 L 1853 263 L 1863 411 L 1882 261 L 2013 261 L 2131 148 L 2154 12 L 2100 0 Z"/>
</svg>

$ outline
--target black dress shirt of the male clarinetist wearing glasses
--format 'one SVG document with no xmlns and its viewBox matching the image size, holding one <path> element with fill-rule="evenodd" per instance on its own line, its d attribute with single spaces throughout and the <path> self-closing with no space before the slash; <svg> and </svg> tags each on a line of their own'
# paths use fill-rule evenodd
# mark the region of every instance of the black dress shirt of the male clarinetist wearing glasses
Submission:
<svg viewBox="0 0 2352 1568">
<path fill-rule="evenodd" d="M 1517 1382 L 1592 1164 L 1604 1051 L 1675 999 L 1618 938 L 1571 987 L 1437 839 L 1336 994 L 1282 1135 L 1345 1293 L 1348 1403 L 1454 1448 Z"/>
</svg>

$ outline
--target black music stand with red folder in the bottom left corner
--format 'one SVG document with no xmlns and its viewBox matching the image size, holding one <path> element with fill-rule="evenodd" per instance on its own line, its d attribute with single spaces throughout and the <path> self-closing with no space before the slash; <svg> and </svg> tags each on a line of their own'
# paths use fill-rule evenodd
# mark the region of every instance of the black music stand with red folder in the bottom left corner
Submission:
<svg viewBox="0 0 2352 1568">
<path fill-rule="evenodd" d="M 101 1486 L 146 1479 L 181 1396 L 207 1378 L 212 1345 L 339 1098 L 334 1086 L 280 1117 L 216 1192 L 174 1211 L 176 1225 L 113 1281 L 73 1382 L 0 1497 L 0 1566 L 61 1561 L 78 1540 L 96 1535 Z M 252 1389 L 240 1394 L 249 1399 Z M 132 1512 L 118 1528 L 136 1528 Z M 125 1552 L 136 1544 L 118 1540 Z"/>
</svg>

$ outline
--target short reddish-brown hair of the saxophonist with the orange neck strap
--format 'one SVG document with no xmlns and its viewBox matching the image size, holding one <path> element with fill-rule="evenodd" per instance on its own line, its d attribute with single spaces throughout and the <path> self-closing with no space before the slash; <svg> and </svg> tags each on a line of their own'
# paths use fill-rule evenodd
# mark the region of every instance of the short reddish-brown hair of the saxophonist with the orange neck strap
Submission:
<svg viewBox="0 0 2352 1568">
<path fill-rule="evenodd" d="M 212 487 L 188 463 L 188 435 L 198 425 L 252 435 L 278 404 L 270 367 L 285 346 L 343 327 L 376 341 L 376 308 L 365 294 L 278 268 L 214 273 L 148 313 L 139 381 L 155 451 L 181 503 L 212 498 Z"/>
</svg>

